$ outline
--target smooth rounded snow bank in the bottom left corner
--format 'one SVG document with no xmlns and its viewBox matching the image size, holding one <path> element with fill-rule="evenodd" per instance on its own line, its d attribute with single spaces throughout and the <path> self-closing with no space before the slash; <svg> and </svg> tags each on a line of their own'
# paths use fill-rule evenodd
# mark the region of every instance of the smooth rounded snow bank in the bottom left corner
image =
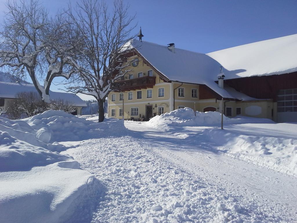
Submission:
<svg viewBox="0 0 297 223">
<path fill-rule="evenodd" d="M 0 222 L 89 222 L 104 187 L 73 162 L 0 172 Z"/>
</svg>

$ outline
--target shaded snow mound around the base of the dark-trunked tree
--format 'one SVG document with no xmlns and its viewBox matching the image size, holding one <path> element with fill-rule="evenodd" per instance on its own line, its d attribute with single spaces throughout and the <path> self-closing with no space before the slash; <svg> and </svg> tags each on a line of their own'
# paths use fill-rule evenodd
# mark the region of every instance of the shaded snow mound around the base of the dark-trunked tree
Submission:
<svg viewBox="0 0 297 223">
<path fill-rule="evenodd" d="M 96 123 L 98 116 L 91 116 L 90 120 L 89 118 L 89 116 L 77 117 L 61 110 L 48 110 L 23 119 L 23 121 L 36 131 L 46 128 L 48 134 L 51 135 L 49 142 L 81 141 L 93 137 L 98 138 L 103 134 L 123 134 L 126 131 L 121 120 L 105 119 L 102 123 Z"/>
</svg>

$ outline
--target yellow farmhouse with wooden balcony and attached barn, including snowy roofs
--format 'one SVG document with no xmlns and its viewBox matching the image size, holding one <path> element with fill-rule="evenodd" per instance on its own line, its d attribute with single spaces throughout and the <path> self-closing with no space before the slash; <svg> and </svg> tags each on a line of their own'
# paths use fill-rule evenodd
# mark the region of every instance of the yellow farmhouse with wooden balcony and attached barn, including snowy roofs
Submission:
<svg viewBox="0 0 297 223">
<path fill-rule="evenodd" d="M 108 95 L 109 117 L 149 120 L 223 106 L 229 117 L 297 122 L 297 34 L 208 54 L 140 40 L 132 43 L 133 72 L 117 82 L 121 92 Z"/>
</svg>

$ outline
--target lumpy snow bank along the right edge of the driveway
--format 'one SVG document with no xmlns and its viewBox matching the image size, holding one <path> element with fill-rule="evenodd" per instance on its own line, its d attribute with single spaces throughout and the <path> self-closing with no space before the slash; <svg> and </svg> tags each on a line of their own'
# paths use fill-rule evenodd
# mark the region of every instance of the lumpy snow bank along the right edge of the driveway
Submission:
<svg viewBox="0 0 297 223">
<path fill-rule="evenodd" d="M 241 126 L 241 128 L 247 127 Z M 196 145 L 207 144 L 233 158 L 297 176 L 296 137 L 292 139 L 262 136 L 251 131 L 242 132 L 230 127 L 223 131 L 218 128 L 205 129 L 197 136 L 189 138 L 191 139 L 194 139 Z"/>
</svg>

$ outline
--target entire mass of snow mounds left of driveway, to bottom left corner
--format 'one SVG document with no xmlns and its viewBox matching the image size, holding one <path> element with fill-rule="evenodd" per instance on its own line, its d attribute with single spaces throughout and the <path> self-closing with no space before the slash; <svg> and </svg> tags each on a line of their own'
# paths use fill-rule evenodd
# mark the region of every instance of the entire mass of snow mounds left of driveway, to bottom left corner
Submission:
<svg viewBox="0 0 297 223">
<path fill-rule="evenodd" d="M 104 187 L 71 156 L 58 153 L 67 147 L 55 141 L 69 140 L 65 130 L 82 133 L 96 123 L 61 111 L 25 121 L 0 117 L 0 222 L 90 221 Z"/>
</svg>

